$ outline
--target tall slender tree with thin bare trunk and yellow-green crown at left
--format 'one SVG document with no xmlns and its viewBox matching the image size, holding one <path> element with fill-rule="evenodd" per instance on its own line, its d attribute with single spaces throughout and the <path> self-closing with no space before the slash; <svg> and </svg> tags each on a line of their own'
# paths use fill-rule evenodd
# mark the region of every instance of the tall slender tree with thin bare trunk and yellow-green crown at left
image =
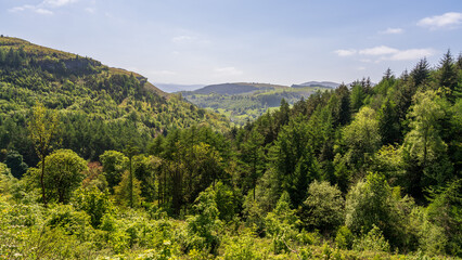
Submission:
<svg viewBox="0 0 462 260">
<path fill-rule="evenodd" d="M 51 142 L 57 132 L 59 115 L 54 110 L 48 110 L 42 104 L 38 104 L 33 108 L 33 115 L 28 122 L 30 139 L 34 148 L 40 159 L 40 185 L 43 205 L 47 206 L 46 188 L 44 188 L 44 166 L 46 158 L 51 150 Z"/>
</svg>

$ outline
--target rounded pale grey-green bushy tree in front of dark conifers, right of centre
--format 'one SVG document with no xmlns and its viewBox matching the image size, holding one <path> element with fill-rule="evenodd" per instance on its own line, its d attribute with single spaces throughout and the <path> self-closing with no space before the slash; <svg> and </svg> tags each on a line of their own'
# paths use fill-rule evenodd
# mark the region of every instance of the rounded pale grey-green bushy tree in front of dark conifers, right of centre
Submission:
<svg viewBox="0 0 462 260">
<path fill-rule="evenodd" d="M 344 221 L 344 207 L 345 200 L 336 186 L 313 181 L 304 202 L 301 221 L 320 231 L 334 231 Z"/>
</svg>

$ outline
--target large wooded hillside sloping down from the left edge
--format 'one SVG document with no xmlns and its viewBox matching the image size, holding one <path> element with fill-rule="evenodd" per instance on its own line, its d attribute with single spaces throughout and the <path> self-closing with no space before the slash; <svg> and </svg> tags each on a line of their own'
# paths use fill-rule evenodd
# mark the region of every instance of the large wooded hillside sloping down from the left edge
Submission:
<svg viewBox="0 0 462 260">
<path fill-rule="evenodd" d="M 137 73 L 90 57 L 0 38 L 0 148 L 37 162 L 27 138 L 31 107 L 59 110 L 62 146 L 97 159 L 104 150 L 139 146 L 170 129 L 193 125 L 226 130 L 226 118 L 168 94 Z M 101 144 L 101 145 L 98 145 Z"/>
</svg>

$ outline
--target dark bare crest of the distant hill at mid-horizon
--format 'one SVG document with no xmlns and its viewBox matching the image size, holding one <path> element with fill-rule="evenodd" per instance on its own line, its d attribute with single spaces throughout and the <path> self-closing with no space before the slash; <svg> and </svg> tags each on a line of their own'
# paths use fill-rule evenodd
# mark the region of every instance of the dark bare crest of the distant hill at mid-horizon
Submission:
<svg viewBox="0 0 462 260">
<path fill-rule="evenodd" d="M 252 93 L 255 91 L 270 91 L 277 89 L 284 89 L 287 86 L 280 84 L 269 84 L 269 83 L 246 83 L 246 82 L 238 82 L 238 83 L 220 83 L 220 84 L 209 84 L 202 89 L 193 91 L 195 94 L 244 94 Z"/>
</svg>

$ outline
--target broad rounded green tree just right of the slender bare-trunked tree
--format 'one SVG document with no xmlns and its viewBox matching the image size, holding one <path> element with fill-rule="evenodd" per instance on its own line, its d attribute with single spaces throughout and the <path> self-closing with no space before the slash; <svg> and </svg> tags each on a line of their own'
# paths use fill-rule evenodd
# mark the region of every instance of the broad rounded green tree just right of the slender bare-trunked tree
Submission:
<svg viewBox="0 0 462 260">
<path fill-rule="evenodd" d="M 41 166 L 43 161 L 39 162 Z M 70 150 L 57 150 L 47 157 L 43 178 L 50 199 L 66 204 L 72 193 L 80 186 L 87 161 Z"/>
</svg>

